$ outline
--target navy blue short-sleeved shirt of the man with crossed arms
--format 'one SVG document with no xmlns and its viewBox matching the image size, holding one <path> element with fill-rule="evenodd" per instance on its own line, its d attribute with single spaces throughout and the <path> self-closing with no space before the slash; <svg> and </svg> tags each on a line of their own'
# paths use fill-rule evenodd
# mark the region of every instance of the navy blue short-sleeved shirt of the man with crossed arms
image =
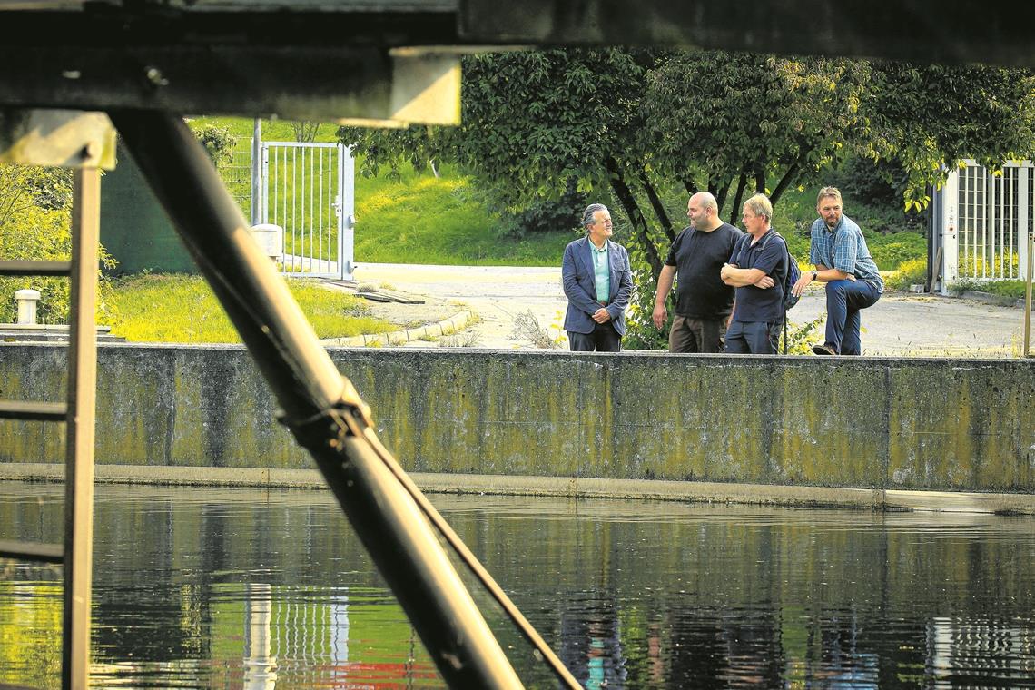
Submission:
<svg viewBox="0 0 1035 690">
<path fill-rule="evenodd" d="M 737 288 L 737 306 L 733 320 L 741 322 L 762 321 L 772 323 L 783 318 L 783 281 L 787 280 L 787 242 L 783 238 L 766 231 L 758 242 L 751 244 L 751 236 L 745 236 L 733 248 L 730 263 L 737 268 L 757 268 L 770 276 L 776 284 L 763 290 L 756 286 Z"/>
</svg>

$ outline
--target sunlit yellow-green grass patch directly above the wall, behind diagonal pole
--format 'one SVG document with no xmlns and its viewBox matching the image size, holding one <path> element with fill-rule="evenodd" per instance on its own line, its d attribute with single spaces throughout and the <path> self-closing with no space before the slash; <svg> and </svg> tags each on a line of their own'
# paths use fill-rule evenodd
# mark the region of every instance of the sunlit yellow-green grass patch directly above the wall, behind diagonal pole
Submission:
<svg viewBox="0 0 1035 690">
<path fill-rule="evenodd" d="M 321 338 L 383 333 L 395 326 L 367 314 L 362 300 L 289 280 L 292 295 Z M 200 276 L 144 274 L 114 281 L 112 334 L 135 342 L 240 342 L 223 307 Z"/>
</svg>

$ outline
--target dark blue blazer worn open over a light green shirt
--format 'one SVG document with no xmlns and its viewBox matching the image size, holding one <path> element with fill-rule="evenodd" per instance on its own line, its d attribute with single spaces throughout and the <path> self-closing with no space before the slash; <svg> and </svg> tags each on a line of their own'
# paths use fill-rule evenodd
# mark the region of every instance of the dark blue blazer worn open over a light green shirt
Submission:
<svg viewBox="0 0 1035 690">
<path fill-rule="evenodd" d="M 611 295 L 608 313 L 619 335 L 625 335 L 625 307 L 632 293 L 632 270 L 629 252 L 621 244 L 608 240 L 608 258 L 611 263 Z M 593 250 L 589 237 L 583 237 L 564 247 L 561 263 L 561 281 L 568 298 L 564 314 L 564 330 L 572 333 L 592 333 L 596 322 L 593 313 L 600 308 L 596 300 L 596 277 L 593 273 Z"/>
</svg>

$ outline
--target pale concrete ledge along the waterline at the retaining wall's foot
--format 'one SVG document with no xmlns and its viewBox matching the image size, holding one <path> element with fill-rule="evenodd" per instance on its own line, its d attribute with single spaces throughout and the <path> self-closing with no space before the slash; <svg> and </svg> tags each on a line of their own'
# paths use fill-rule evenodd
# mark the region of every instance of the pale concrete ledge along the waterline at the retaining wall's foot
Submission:
<svg viewBox="0 0 1035 690">
<path fill-rule="evenodd" d="M 98 483 L 323 489 L 316 470 L 98 464 Z M 856 510 L 915 510 L 1035 515 L 1035 494 L 907 491 L 584 477 L 411 473 L 427 493 L 484 493 L 571 499 L 632 499 Z M 0 481 L 61 481 L 63 464 L 0 462 Z"/>
</svg>

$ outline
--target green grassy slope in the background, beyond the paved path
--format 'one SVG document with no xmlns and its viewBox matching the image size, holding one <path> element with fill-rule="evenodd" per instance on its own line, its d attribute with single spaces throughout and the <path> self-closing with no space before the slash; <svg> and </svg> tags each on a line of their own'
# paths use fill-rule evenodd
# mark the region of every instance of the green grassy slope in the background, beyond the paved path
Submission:
<svg viewBox="0 0 1035 690">
<path fill-rule="evenodd" d="M 225 127 L 235 137 L 252 137 L 253 120 L 199 118 L 193 126 Z M 291 123 L 263 122 L 265 141 L 294 141 Z M 323 124 L 316 141 L 336 141 L 337 127 Z M 678 203 L 677 203 L 678 202 Z M 685 199 L 669 209 L 674 224 L 686 224 Z M 870 208 L 846 199 L 845 212 L 859 222 L 882 271 L 926 254 L 926 240 L 916 232 L 895 230 L 896 209 Z M 572 209 L 575 216 L 582 209 Z M 616 210 L 617 212 L 617 210 Z M 729 210 L 723 213 L 729 216 Z M 776 204 L 773 227 L 788 239 L 802 264 L 808 260 L 808 228 L 816 219 L 816 190 L 789 189 Z M 441 264 L 481 266 L 558 266 L 564 245 L 575 237 L 570 228 L 514 238 L 497 231 L 499 218 L 473 192 L 469 177 L 451 166 L 414 171 L 405 166 L 397 179 L 388 175 L 356 177 L 355 259 L 362 264 Z M 574 219 L 572 220 L 572 224 Z M 877 232 L 877 231 L 880 232 Z M 620 240 L 620 238 L 619 238 Z"/>
</svg>

